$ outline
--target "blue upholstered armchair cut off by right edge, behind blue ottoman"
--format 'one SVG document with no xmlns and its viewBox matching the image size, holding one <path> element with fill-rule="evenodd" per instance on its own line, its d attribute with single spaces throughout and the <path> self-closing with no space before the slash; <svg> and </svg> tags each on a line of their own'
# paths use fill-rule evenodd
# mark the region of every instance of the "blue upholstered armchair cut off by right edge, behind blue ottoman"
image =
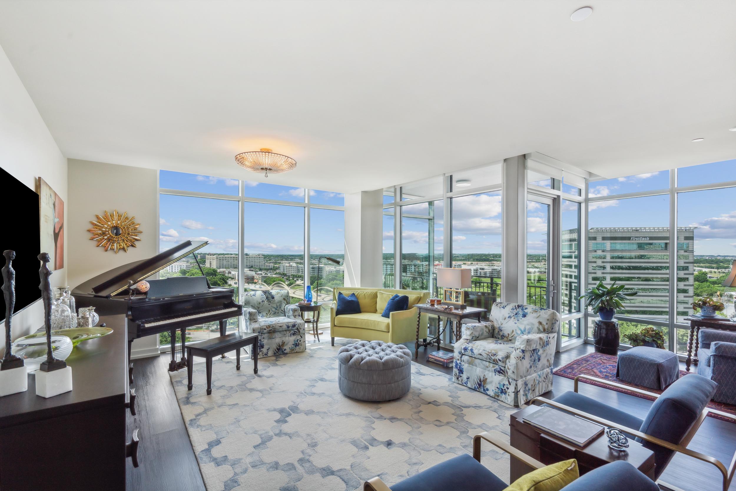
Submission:
<svg viewBox="0 0 736 491">
<path fill-rule="evenodd" d="M 736 404 L 736 333 L 701 329 L 698 346 L 698 373 L 718 384 L 713 400 Z"/>
</svg>

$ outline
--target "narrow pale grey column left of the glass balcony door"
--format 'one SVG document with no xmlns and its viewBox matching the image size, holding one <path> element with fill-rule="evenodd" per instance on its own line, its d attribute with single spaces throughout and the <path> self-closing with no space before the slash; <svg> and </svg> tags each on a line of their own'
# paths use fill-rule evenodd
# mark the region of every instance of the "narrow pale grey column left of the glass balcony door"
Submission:
<svg viewBox="0 0 736 491">
<path fill-rule="evenodd" d="M 526 303 L 526 159 L 503 160 L 501 300 Z"/>
</svg>

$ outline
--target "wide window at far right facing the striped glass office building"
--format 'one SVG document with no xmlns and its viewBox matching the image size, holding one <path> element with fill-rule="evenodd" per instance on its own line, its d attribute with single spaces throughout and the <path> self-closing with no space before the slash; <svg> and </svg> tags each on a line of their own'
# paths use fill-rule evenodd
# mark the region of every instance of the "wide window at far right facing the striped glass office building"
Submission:
<svg viewBox="0 0 736 491">
<path fill-rule="evenodd" d="M 720 292 L 720 315 L 735 315 L 723 280 L 736 259 L 736 160 L 592 181 L 588 197 L 588 286 L 617 280 L 637 292 L 617 316 L 623 343 L 654 325 L 685 353 L 694 297 Z"/>
</svg>

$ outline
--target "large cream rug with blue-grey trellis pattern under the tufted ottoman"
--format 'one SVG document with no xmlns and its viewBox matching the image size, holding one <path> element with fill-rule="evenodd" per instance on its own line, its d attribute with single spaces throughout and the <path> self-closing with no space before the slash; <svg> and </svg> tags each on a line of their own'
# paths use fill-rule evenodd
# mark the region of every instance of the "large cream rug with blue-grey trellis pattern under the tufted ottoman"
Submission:
<svg viewBox="0 0 736 491">
<path fill-rule="evenodd" d="M 347 342 L 342 343 L 342 345 Z M 385 403 L 353 400 L 337 386 L 337 350 L 329 342 L 258 361 L 213 362 L 171 374 L 194 453 L 209 491 L 359 490 L 380 476 L 392 484 L 473 452 L 473 435 L 508 442 L 516 411 L 449 375 L 412 362 L 411 392 Z M 509 481 L 509 456 L 484 445 L 482 462 Z"/>
</svg>

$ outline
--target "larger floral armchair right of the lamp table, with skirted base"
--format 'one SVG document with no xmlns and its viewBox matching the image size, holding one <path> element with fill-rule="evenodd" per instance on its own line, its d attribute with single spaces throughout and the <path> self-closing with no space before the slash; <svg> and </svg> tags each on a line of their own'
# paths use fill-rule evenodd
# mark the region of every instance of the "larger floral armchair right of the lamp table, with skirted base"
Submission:
<svg viewBox="0 0 736 491">
<path fill-rule="evenodd" d="M 455 381 L 511 406 L 551 390 L 559 322 L 549 308 L 493 303 L 489 322 L 462 325 Z"/>
</svg>

